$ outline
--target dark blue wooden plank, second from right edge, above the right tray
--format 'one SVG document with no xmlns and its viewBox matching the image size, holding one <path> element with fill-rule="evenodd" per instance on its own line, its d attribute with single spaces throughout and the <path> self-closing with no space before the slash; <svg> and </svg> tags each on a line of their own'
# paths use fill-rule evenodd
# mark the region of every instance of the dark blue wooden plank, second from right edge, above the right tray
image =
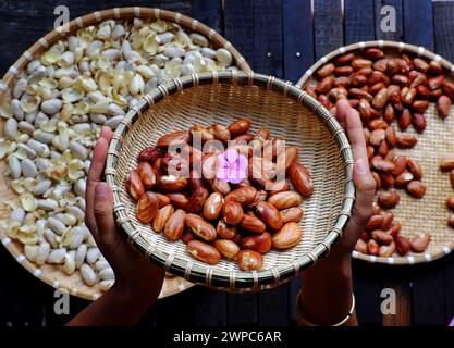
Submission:
<svg viewBox="0 0 454 348">
<path fill-rule="evenodd" d="M 432 0 L 404 1 L 405 42 L 433 51 Z"/>
</svg>

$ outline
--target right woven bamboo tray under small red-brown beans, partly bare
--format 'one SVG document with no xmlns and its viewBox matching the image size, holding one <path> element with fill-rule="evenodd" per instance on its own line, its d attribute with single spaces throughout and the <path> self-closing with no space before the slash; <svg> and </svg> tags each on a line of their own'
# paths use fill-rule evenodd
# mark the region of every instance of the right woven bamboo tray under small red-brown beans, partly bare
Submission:
<svg viewBox="0 0 454 348">
<path fill-rule="evenodd" d="M 327 54 L 303 75 L 297 85 L 303 89 L 306 86 L 314 86 L 316 82 L 312 74 L 320 66 L 339 55 L 345 54 L 345 52 L 360 51 L 370 47 L 381 48 L 390 55 L 410 52 L 418 57 L 435 60 L 445 67 L 446 77 L 452 79 L 454 65 L 440 55 L 428 51 L 424 47 L 380 40 L 354 44 Z M 393 213 L 402 224 L 401 233 L 403 235 L 410 237 L 416 233 L 429 232 L 431 234 L 429 247 L 424 253 L 410 252 L 405 257 L 395 256 L 390 258 L 353 251 L 354 258 L 388 264 L 414 264 L 437 260 L 454 249 L 454 231 L 446 224 L 451 213 L 445 206 L 445 200 L 453 192 L 453 188 L 447 174 L 442 173 L 439 169 L 440 158 L 444 154 L 452 154 L 454 150 L 454 113 L 451 112 L 451 116 L 443 121 L 438 115 L 434 103 L 430 103 L 425 115 L 428 127 L 422 134 L 417 134 L 413 127 L 405 130 L 405 133 L 417 136 L 418 144 L 416 147 L 409 150 L 395 149 L 395 152 L 396 154 L 404 153 L 421 164 L 422 182 L 427 185 L 427 192 L 422 199 L 414 199 L 402 192 L 401 202 L 393 209 Z"/>
</svg>

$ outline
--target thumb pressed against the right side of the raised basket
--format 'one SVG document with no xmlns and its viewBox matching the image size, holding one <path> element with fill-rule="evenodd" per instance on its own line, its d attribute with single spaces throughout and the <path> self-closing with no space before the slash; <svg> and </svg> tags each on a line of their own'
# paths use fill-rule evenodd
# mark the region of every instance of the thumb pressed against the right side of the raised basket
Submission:
<svg viewBox="0 0 454 348">
<path fill-rule="evenodd" d="M 372 203 L 377 187 L 367 161 L 359 159 L 355 162 L 353 166 L 353 182 L 356 187 L 356 200 L 351 221 L 356 225 L 359 233 L 365 228 L 372 213 Z"/>
</svg>

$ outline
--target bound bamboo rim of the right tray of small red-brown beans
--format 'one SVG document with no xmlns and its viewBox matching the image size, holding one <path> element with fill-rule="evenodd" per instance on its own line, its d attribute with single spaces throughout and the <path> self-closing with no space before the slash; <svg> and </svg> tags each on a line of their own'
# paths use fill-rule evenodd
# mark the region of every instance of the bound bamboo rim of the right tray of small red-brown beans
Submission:
<svg viewBox="0 0 454 348">
<path fill-rule="evenodd" d="M 323 64 L 328 63 L 332 59 L 338 55 L 345 54 L 346 52 L 364 50 L 366 48 L 380 48 L 380 49 L 393 49 L 397 52 L 412 52 L 417 54 L 417 57 L 424 57 L 430 60 L 434 60 L 442 64 L 451 75 L 454 75 L 454 64 L 451 63 L 449 60 L 444 59 L 440 54 L 437 54 L 422 46 L 415 46 L 410 44 L 400 42 L 400 41 L 390 41 L 390 40 L 372 40 L 372 41 L 361 41 L 352 44 L 345 47 L 341 47 L 327 55 L 319 59 L 312 66 L 310 66 L 305 74 L 300 77 L 297 83 L 299 88 L 303 88 L 304 85 L 309 80 L 309 78 L 314 75 L 317 70 L 322 66 Z M 446 246 L 442 247 L 441 250 L 435 252 L 426 252 L 426 253 L 415 253 L 407 257 L 375 257 L 369 254 L 364 254 L 354 250 L 352 252 L 352 257 L 355 259 L 368 261 L 371 263 L 385 263 L 385 264 L 396 264 L 396 265 L 408 265 L 408 264 L 416 264 L 416 263 L 426 263 L 438 260 L 454 250 L 454 237 L 452 243 L 447 244 Z"/>
</svg>

